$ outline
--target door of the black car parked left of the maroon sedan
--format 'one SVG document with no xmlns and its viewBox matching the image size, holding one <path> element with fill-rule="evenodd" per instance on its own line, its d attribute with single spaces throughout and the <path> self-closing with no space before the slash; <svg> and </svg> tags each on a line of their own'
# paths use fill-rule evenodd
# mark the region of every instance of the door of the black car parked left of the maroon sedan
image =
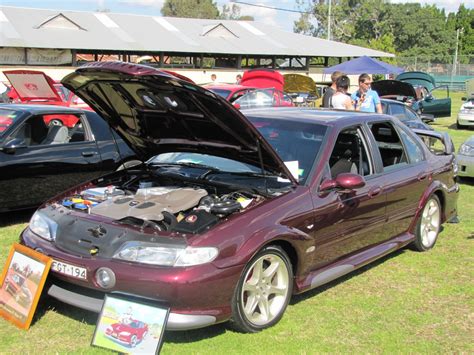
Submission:
<svg viewBox="0 0 474 355">
<path fill-rule="evenodd" d="M 49 127 L 45 116 L 33 115 L 7 137 L 22 140 L 0 154 L 2 209 L 36 206 L 46 199 L 100 175 L 102 162 L 84 117 L 73 128 Z M 60 116 L 60 115 L 59 115 Z"/>
</svg>

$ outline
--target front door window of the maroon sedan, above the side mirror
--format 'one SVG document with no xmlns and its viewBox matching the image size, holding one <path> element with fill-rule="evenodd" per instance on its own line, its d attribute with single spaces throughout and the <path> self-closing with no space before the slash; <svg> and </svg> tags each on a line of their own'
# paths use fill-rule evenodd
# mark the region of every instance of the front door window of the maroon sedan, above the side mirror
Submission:
<svg viewBox="0 0 474 355">
<path fill-rule="evenodd" d="M 329 158 L 331 177 L 341 173 L 367 176 L 373 173 L 373 164 L 367 154 L 367 144 L 359 127 L 351 127 L 339 133 Z"/>
</svg>

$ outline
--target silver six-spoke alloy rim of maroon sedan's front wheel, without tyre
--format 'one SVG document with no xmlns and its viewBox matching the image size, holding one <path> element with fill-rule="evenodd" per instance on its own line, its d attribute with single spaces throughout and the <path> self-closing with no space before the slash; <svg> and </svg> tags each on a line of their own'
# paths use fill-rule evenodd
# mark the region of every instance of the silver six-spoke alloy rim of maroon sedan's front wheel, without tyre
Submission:
<svg viewBox="0 0 474 355">
<path fill-rule="evenodd" d="M 263 326 L 281 314 L 289 292 L 289 272 L 281 257 L 266 254 L 248 269 L 241 291 L 241 306 L 247 320 Z"/>
</svg>

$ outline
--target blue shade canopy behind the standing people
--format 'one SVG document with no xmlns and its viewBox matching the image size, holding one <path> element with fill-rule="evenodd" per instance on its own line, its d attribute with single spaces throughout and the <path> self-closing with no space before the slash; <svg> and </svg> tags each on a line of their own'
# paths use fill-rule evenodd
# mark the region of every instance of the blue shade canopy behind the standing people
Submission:
<svg viewBox="0 0 474 355">
<path fill-rule="evenodd" d="M 355 58 L 348 60 L 347 62 L 325 68 L 323 73 L 331 74 L 336 70 L 345 74 L 399 74 L 404 71 L 403 68 L 399 68 L 367 56 Z"/>
</svg>

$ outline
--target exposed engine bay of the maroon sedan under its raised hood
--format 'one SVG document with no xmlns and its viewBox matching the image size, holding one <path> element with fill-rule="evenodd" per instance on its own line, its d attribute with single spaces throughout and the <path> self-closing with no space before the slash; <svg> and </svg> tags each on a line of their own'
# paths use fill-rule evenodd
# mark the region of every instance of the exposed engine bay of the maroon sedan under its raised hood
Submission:
<svg viewBox="0 0 474 355">
<path fill-rule="evenodd" d="M 154 186 L 150 181 L 135 185 L 136 188 L 108 185 L 86 189 L 61 204 L 138 227 L 202 233 L 222 218 L 259 200 L 258 196 L 242 191 L 217 195 L 202 187 Z"/>
</svg>

